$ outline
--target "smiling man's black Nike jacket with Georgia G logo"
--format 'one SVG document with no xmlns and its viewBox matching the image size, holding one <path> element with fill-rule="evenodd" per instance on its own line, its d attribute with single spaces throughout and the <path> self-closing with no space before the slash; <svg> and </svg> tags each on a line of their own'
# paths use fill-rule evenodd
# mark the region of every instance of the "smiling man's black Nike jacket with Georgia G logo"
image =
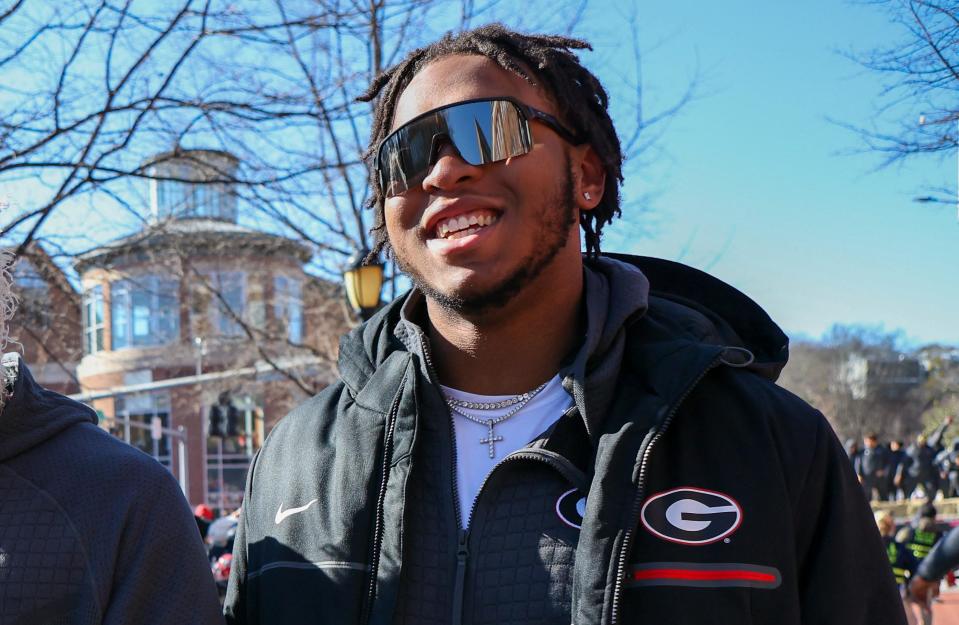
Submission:
<svg viewBox="0 0 959 625">
<path fill-rule="evenodd" d="M 771 381 L 782 332 L 628 260 L 587 262 L 575 408 L 497 465 L 465 536 L 421 296 L 346 337 L 341 381 L 250 469 L 228 621 L 903 623 L 842 447 Z"/>
</svg>

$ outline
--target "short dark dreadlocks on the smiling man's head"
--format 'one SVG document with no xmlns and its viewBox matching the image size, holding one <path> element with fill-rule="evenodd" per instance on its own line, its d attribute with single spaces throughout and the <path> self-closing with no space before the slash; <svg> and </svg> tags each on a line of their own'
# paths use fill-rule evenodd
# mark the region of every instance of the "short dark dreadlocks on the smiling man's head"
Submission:
<svg viewBox="0 0 959 625">
<path fill-rule="evenodd" d="M 531 85 L 542 88 L 559 109 L 560 119 L 572 126 L 599 156 L 606 170 L 603 199 L 590 211 L 580 212 L 580 226 L 586 240 L 586 253 L 599 254 L 603 226 L 620 215 L 619 185 L 623 181 L 619 137 L 609 118 L 609 96 L 599 80 L 570 50 L 591 50 L 581 39 L 559 35 L 524 35 L 502 24 L 488 24 L 459 34 L 447 33 L 439 41 L 411 52 L 406 59 L 376 77 L 357 100 L 376 101 L 373 130 L 365 158 L 373 171 L 376 146 L 390 132 L 396 101 L 421 69 L 443 57 L 463 54 L 485 56 L 503 69 L 517 74 Z M 531 70 L 533 76 L 527 72 Z M 378 185 L 373 185 L 370 204 L 374 209 L 370 258 L 389 252 L 389 239 Z"/>
</svg>

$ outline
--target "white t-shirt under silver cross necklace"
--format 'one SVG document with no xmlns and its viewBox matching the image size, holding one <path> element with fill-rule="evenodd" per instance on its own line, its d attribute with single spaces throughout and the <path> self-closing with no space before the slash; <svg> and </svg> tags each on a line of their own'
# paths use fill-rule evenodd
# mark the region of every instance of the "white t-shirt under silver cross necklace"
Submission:
<svg viewBox="0 0 959 625">
<path fill-rule="evenodd" d="M 511 395 L 475 395 L 455 388 L 442 386 L 443 395 L 461 401 L 492 403 L 509 399 Z M 529 400 L 523 408 L 505 421 L 493 426 L 493 435 L 503 440 L 493 444 L 493 457 L 489 457 L 489 444 L 481 443 L 489 434 L 487 427 L 474 423 L 466 417 L 453 412 L 453 429 L 456 432 L 456 485 L 460 500 L 460 522 L 463 528 L 469 526 L 473 501 L 479 493 L 483 480 L 496 464 L 508 454 L 521 449 L 536 436 L 546 431 L 554 421 L 563 416 L 573 405 L 573 398 L 563 388 L 559 376 L 554 376 L 546 388 Z M 495 419 L 506 414 L 515 406 L 497 410 L 473 410 L 458 408 L 483 421 Z"/>
</svg>

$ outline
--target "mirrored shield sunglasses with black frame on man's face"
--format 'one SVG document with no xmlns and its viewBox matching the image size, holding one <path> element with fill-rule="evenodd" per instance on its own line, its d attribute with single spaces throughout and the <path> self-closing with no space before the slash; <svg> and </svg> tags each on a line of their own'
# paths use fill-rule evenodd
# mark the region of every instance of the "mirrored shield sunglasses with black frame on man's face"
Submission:
<svg viewBox="0 0 959 625">
<path fill-rule="evenodd" d="M 427 111 L 391 132 L 376 150 L 375 180 L 383 197 L 423 181 L 444 142 L 470 165 L 487 165 L 533 149 L 529 122 L 539 121 L 566 141 L 582 141 L 559 120 L 513 98 L 483 98 Z"/>
</svg>

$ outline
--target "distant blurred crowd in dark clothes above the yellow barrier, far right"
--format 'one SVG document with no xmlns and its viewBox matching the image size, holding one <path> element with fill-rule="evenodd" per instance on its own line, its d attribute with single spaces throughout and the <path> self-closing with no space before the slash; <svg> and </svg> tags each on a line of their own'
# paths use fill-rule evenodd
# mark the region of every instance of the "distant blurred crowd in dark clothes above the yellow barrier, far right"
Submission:
<svg viewBox="0 0 959 625">
<path fill-rule="evenodd" d="M 866 497 L 873 501 L 959 497 L 959 438 L 946 447 L 943 434 L 952 424 L 947 417 L 928 436 L 920 434 L 908 446 L 901 440 L 883 443 L 874 433 L 862 445 L 846 441 L 846 453 L 859 476 Z"/>
</svg>

